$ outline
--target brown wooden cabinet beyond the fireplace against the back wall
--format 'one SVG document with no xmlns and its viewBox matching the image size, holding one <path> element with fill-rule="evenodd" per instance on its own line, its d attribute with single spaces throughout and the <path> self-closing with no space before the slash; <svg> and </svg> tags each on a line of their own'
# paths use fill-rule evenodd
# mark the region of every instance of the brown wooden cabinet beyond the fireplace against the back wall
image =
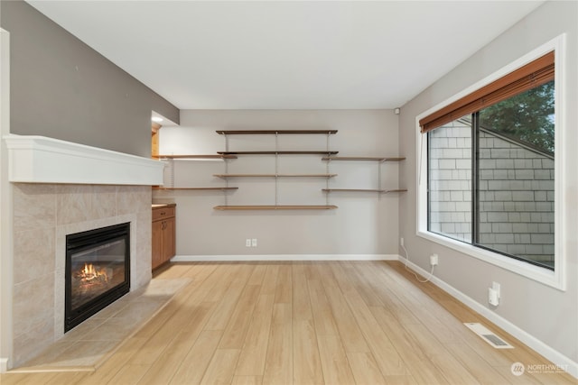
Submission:
<svg viewBox="0 0 578 385">
<path fill-rule="evenodd" d="M 152 268 L 169 261 L 176 253 L 176 205 L 153 205 Z"/>
</svg>

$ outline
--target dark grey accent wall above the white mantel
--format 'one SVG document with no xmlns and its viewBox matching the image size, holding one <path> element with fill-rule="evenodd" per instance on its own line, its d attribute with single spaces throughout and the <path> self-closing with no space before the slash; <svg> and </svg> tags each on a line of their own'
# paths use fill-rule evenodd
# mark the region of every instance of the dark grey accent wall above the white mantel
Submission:
<svg viewBox="0 0 578 385">
<path fill-rule="evenodd" d="M 1 2 L 10 32 L 11 133 L 140 156 L 151 153 L 151 111 L 179 110 L 23 1 Z"/>
</svg>

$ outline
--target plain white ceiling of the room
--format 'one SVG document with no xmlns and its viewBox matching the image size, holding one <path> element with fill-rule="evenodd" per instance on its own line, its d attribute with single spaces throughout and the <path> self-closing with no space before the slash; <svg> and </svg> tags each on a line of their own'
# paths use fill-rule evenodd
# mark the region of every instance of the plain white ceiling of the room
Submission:
<svg viewBox="0 0 578 385">
<path fill-rule="evenodd" d="M 181 109 L 395 108 L 542 1 L 28 1 Z"/>
</svg>

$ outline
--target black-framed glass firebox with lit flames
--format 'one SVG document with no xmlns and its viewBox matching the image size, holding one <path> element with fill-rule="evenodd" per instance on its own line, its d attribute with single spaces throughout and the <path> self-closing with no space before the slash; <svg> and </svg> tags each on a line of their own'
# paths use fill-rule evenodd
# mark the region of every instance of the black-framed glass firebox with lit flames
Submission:
<svg viewBox="0 0 578 385">
<path fill-rule="evenodd" d="M 66 236 L 64 332 L 130 291 L 130 223 Z"/>
</svg>

